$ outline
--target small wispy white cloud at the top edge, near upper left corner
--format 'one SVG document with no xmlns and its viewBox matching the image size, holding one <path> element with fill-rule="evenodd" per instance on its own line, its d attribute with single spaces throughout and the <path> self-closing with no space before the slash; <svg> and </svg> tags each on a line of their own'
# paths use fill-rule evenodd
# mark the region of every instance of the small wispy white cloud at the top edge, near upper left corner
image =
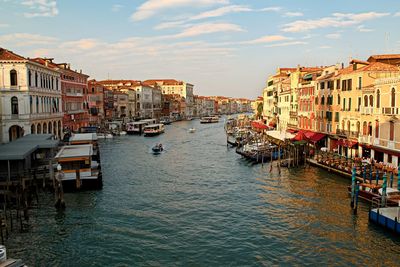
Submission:
<svg viewBox="0 0 400 267">
<path fill-rule="evenodd" d="M 21 3 L 31 12 L 25 12 L 27 18 L 54 17 L 58 15 L 57 1 L 55 0 L 25 0 Z"/>
</svg>

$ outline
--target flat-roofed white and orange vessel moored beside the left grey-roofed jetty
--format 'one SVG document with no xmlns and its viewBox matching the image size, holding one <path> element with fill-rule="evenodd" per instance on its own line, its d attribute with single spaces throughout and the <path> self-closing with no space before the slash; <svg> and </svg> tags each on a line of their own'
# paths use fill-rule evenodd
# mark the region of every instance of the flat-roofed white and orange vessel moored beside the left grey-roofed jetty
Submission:
<svg viewBox="0 0 400 267">
<path fill-rule="evenodd" d="M 99 162 L 93 159 L 93 145 L 63 146 L 55 156 L 61 165 L 65 191 L 75 189 L 101 189 L 103 178 Z"/>
</svg>

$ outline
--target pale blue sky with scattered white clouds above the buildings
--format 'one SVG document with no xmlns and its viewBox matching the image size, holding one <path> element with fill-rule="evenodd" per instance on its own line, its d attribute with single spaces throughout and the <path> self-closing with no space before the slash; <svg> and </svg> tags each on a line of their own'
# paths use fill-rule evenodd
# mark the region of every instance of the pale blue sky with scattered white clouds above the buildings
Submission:
<svg viewBox="0 0 400 267">
<path fill-rule="evenodd" d="M 96 80 L 256 98 L 278 67 L 400 53 L 398 0 L 0 0 L 0 47 Z"/>
</svg>

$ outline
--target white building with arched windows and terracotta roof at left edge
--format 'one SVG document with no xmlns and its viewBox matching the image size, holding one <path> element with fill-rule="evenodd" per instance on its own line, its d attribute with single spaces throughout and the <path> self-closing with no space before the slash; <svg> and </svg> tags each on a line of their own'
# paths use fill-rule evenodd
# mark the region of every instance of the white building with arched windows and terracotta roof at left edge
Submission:
<svg viewBox="0 0 400 267">
<path fill-rule="evenodd" d="M 61 138 L 60 72 L 0 48 L 0 142 L 26 134 Z"/>
</svg>

